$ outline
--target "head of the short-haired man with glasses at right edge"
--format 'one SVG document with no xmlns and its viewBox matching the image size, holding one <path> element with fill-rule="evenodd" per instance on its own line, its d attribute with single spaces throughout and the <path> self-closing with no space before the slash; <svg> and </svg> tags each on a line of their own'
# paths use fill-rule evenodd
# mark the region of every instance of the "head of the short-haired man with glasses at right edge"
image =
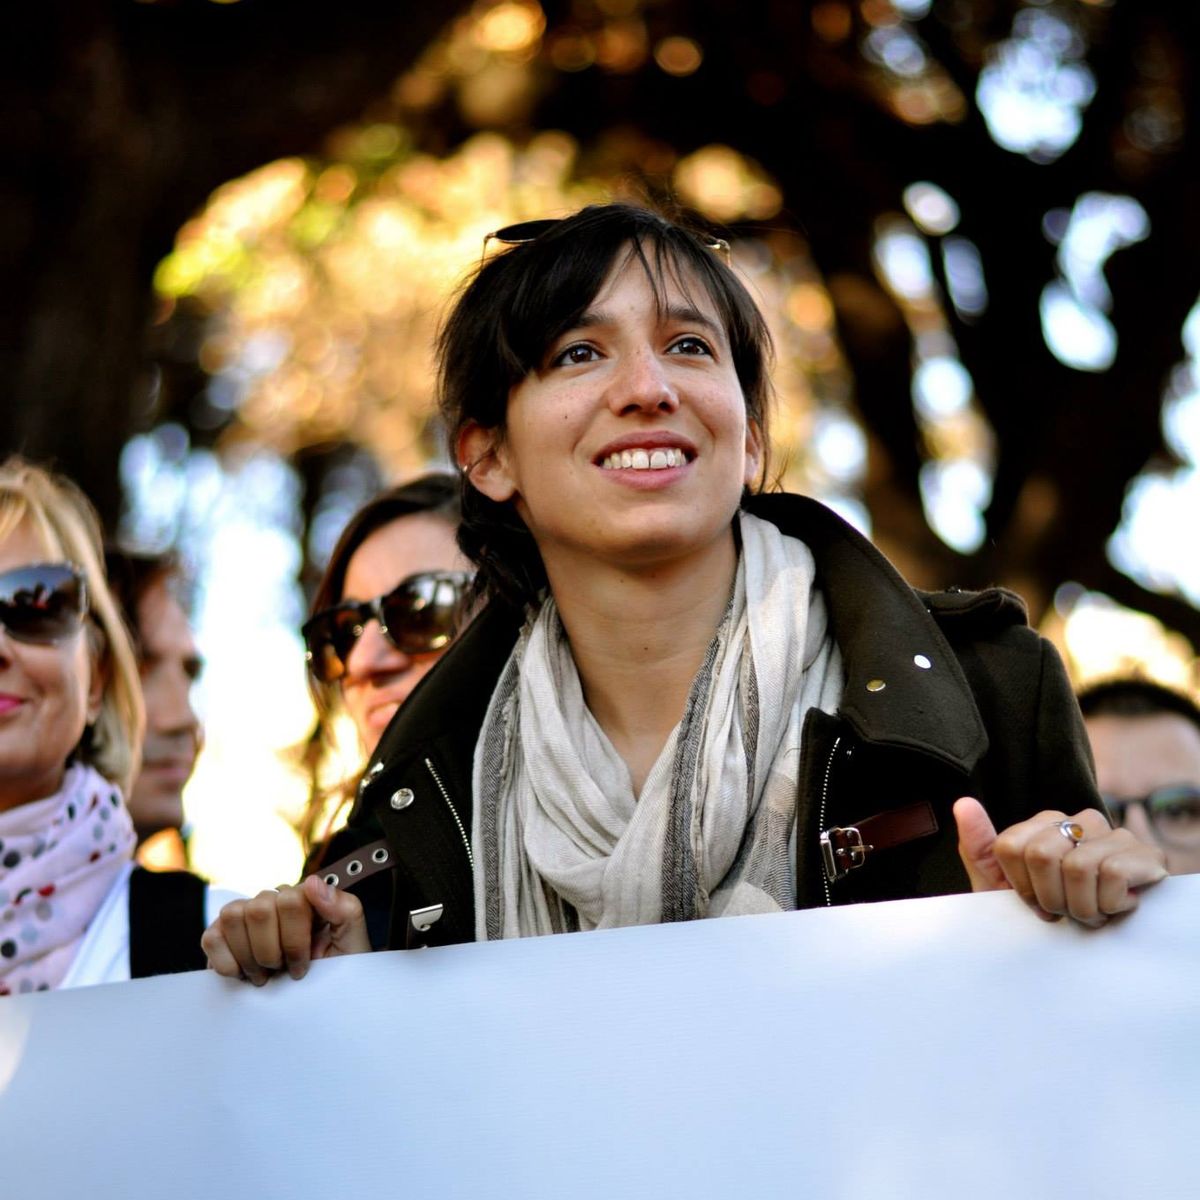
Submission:
<svg viewBox="0 0 1200 1200">
<path fill-rule="evenodd" d="M 1146 679 L 1094 684 L 1079 707 L 1114 820 L 1162 846 L 1172 875 L 1200 871 L 1200 707 Z"/>
</svg>

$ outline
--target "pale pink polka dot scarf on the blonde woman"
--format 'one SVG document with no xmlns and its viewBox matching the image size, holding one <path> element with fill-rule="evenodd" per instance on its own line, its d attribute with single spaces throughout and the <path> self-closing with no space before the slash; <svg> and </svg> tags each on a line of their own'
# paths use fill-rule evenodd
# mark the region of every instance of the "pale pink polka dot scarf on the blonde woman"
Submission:
<svg viewBox="0 0 1200 1200">
<path fill-rule="evenodd" d="M 0 996 L 62 982 L 136 844 L 121 793 L 82 764 L 54 796 L 0 812 Z"/>
</svg>

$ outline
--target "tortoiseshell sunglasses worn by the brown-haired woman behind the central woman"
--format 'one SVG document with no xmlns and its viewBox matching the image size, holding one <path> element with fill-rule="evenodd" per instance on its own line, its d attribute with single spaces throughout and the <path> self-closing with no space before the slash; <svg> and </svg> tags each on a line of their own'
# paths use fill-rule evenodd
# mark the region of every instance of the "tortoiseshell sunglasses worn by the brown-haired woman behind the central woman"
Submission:
<svg viewBox="0 0 1200 1200">
<path fill-rule="evenodd" d="M 346 601 L 305 622 L 305 661 L 320 683 L 346 674 L 346 664 L 367 622 L 379 622 L 384 637 L 402 654 L 430 654 L 449 644 L 463 616 L 469 571 L 409 575 L 374 600 Z"/>
</svg>

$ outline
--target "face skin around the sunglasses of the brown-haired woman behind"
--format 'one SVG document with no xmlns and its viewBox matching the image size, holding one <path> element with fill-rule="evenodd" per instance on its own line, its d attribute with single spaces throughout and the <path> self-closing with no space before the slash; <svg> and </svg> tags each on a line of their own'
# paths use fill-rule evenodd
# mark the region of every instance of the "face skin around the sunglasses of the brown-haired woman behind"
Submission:
<svg viewBox="0 0 1200 1200">
<path fill-rule="evenodd" d="M 469 569 L 455 541 L 454 526 L 444 517 L 414 512 L 376 529 L 354 551 L 341 600 L 373 600 L 420 571 Z M 367 622 L 340 680 L 346 709 L 367 754 L 374 750 L 416 682 L 443 653 L 404 654 L 384 637 L 379 622 Z"/>
</svg>

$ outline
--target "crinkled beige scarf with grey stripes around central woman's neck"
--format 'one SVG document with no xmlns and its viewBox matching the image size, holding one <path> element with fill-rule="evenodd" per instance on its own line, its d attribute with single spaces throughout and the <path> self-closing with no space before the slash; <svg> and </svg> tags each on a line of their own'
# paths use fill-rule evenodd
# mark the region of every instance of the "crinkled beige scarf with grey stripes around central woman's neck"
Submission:
<svg viewBox="0 0 1200 1200">
<path fill-rule="evenodd" d="M 475 744 L 480 940 L 796 906 L 800 730 L 836 709 L 841 656 L 808 547 L 739 520 L 728 611 L 640 797 L 553 599 L 522 630 Z"/>
</svg>

